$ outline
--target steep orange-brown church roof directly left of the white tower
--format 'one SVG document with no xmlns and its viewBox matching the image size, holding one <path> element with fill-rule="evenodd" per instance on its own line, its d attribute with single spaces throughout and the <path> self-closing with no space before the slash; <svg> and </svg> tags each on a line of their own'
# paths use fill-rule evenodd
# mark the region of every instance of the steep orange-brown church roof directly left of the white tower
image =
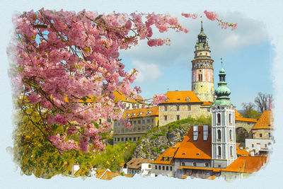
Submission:
<svg viewBox="0 0 283 189">
<path fill-rule="evenodd" d="M 211 133 L 212 127 L 208 127 L 209 133 Z M 175 158 L 180 159 L 212 159 L 212 138 L 211 134 L 208 134 L 207 141 L 203 140 L 203 126 L 198 127 L 197 141 L 193 141 L 193 127 L 181 142 L 180 147 L 175 154 Z"/>
</svg>

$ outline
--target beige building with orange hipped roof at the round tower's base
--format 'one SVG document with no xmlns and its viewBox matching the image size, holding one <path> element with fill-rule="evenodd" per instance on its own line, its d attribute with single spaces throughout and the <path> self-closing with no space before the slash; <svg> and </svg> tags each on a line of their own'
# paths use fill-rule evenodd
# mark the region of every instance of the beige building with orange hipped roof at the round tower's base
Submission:
<svg viewBox="0 0 283 189">
<path fill-rule="evenodd" d="M 166 96 L 166 100 L 158 104 L 160 126 L 188 117 L 210 116 L 212 103 L 200 101 L 193 91 L 168 91 Z"/>
</svg>

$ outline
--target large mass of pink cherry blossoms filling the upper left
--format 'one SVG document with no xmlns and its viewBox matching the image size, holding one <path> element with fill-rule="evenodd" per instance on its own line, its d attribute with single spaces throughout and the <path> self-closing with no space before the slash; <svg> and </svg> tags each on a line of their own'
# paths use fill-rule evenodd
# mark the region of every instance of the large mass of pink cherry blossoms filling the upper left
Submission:
<svg viewBox="0 0 283 189">
<path fill-rule="evenodd" d="M 105 15 L 42 8 L 16 16 L 13 23 L 17 42 L 8 47 L 8 53 L 16 52 L 16 64 L 11 63 L 16 75 L 11 76 L 11 81 L 20 90 L 18 96 L 26 96 L 27 103 L 43 109 L 39 113 L 46 114 L 42 122 L 47 126 L 42 127 L 52 145 L 61 151 L 79 148 L 88 152 L 91 142 L 95 151 L 102 150 L 104 144 L 98 134 L 111 127 L 100 120 L 119 120 L 125 108 L 113 93 L 122 91 L 137 98 L 140 88 L 130 86 L 137 70 L 125 71 L 118 59 L 119 50 L 127 50 L 144 39 L 149 46 L 168 42 L 151 39 L 153 25 L 161 33 L 169 28 L 187 32 L 177 18 L 155 13 Z M 154 104 L 162 99 L 156 96 Z M 54 134 L 53 124 L 62 125 L 66 132 Z M 125 127 L 131 127 L 126 120 Z M 79 142 L 67 140 L 79 133 Z"/>
</svg>

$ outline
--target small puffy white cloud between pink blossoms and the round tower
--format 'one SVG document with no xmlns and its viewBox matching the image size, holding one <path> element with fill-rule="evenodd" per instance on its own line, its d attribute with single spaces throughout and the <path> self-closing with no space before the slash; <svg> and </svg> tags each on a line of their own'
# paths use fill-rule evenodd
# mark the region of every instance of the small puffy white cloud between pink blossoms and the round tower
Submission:
<svg viewBox="0 0 283 189">
<path fill-rule="evenodd" d="M 135 82 L 137 83 L 142 83 L 144 81 L 153 81 L 154 79 L 157 79 L 158 76 L 162 75 L 158 65 L 156 64 L 146 64 L 144 62 L 134 60 L 132 62 L 132 66 L 139 70 L 137 79 L 135 80 Z"/>
</svg>

